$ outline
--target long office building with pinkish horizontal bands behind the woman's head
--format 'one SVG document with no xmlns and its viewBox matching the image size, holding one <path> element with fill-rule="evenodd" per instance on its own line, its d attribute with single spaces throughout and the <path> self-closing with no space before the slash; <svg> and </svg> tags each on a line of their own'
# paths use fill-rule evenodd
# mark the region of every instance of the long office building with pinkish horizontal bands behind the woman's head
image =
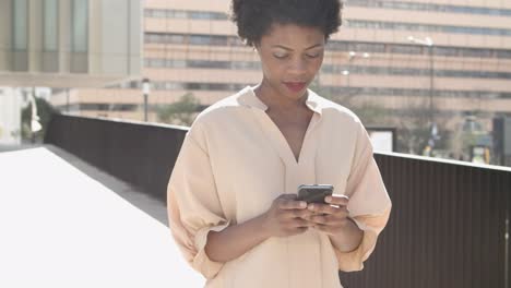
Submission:
<svg viewBox="0 0 511 288">
<path fill-rule="evenodd" d="M 258 56 L 229 20 L 229 0 L 143 3 L 150 120 L 187 93 L 207 106 L 260 81 Z M 494 117 L 511 115 L 511 2 L 348 0 L 343 21 L 318 79 L 322 93 L 348 107 L 383 109 L 378 123 L 401 128 L 433 122 L 455 131 L 470 118 L 491 130 Z M 136 81 L 73 89 L 56 104 L 84 116 L 143 119 Z"/>
</svg>

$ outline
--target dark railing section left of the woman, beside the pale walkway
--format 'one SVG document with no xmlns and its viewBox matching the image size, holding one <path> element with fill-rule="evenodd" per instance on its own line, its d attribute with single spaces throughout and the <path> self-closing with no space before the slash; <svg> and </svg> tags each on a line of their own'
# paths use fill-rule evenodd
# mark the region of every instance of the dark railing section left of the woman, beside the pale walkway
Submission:
<svg viewBox="0 0 511 288">
<path fill-rule="evenodd" d="M 187 128 L 55 115 L 45 143 L 165 201 Z"/>
</svg>

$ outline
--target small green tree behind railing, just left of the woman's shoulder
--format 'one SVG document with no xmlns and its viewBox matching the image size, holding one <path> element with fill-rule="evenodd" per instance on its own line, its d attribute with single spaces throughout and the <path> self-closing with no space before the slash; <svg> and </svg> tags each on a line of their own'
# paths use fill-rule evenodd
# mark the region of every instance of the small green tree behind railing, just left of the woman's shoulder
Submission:
<svg viewBox="0 0 511 288">
<path fill-rule="evenodd" d="M 199 99 L 187 93 L 178 101 L 157 108 L 158 121 L 177 125 L 191 125 L 201 110 Z"/>
</svg>

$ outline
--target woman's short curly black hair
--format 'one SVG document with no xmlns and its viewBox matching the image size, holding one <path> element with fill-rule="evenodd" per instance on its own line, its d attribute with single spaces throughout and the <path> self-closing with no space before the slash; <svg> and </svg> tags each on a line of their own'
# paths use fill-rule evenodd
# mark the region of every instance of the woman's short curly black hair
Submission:
<svg viewBox="0 0 511 288">
<path fill-rule="evenodd" d="M 254 46 L 272 24 L 296 24 L 320 28 L 325 39 L 341 26 L 340 0 L 233 0 L 231 20 L 239 37 Z"/>
</svg>

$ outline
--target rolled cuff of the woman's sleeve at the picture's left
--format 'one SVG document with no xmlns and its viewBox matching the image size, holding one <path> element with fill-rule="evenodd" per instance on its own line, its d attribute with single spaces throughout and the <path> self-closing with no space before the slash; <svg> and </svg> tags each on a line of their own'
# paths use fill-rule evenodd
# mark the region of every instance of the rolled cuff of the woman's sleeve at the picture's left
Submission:
<svg viewBox="0 0 511 288">
<path fill-rule="evenodd" d="M 224 265 L 224 263 L 214 262 L 212 261 L 207 254 L 205 253 L 205 245 L 207 242 L 207 233 L 210 231 L 219 232 L 229 226 L 230 221 L 227 221 L 223 225 L 205 227 L 200 229 L 195 235 L 195 248 L 197 248 L 197 255 L 193 259 L 193 267 L 199 271 L 206 279 L 211 279 L 218 274 L 219 269 Z"/>
</svg>

